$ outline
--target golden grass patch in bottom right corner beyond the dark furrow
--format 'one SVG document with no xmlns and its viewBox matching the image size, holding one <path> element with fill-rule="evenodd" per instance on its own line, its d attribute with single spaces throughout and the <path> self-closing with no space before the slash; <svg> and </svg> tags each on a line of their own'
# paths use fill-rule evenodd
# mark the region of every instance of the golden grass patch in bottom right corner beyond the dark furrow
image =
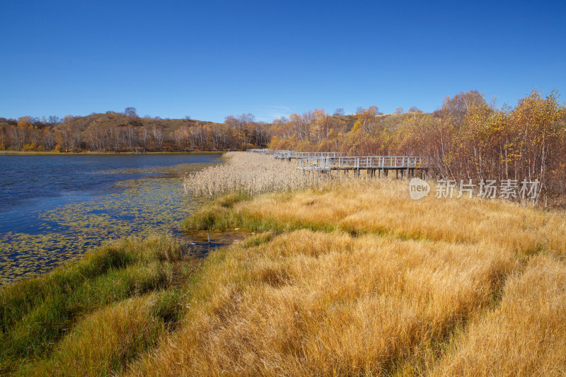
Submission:
<svg viewBox="0 0 566 377">
<path fill-rule="evenodd" d="M 501 305 L 471 323 L 435 376 L 565 376 L 566 265 L 534 257 Z"/>
</svg>

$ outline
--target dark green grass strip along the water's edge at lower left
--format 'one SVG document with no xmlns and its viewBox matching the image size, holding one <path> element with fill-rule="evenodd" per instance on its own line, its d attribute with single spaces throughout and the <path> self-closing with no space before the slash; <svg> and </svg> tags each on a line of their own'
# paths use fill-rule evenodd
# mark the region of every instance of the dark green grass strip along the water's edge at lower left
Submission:
<svg viewBox="0 0 566 377">
<path fill-rule="evenodd" d="M 0 372 L 47 356 L 83 315 L 125 298 L 165 289 L 182 257 L 169 236 L 131 238 L 78 262 L 0 290 Z"/>
</svg>

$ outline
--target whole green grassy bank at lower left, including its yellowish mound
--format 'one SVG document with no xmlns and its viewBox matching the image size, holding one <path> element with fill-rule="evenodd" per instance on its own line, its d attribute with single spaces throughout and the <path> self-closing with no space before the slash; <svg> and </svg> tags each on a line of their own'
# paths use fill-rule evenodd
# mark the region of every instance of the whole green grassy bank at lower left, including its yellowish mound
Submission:
<svg viewBox="0 0 566 377">
<path fill-rule="evenodd" d="M 177 282 L 191 266 L 173 238 L 132 238 L 5 286 L 1 373 L 99 376 L 124 368 L 180 318 Z"/>
</svg>

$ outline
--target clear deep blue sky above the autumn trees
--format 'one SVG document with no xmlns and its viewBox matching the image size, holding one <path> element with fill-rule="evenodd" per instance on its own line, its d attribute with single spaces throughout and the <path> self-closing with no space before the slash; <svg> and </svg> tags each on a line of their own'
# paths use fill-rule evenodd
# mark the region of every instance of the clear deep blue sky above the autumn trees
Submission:
<svg viewBox="0 0 566 377">
<path fill-rule="evenodd" d="M 0 117 L 270 121 L 566 91 L 564 1 L 1 0 L 0 15 Z"/>
</svg>

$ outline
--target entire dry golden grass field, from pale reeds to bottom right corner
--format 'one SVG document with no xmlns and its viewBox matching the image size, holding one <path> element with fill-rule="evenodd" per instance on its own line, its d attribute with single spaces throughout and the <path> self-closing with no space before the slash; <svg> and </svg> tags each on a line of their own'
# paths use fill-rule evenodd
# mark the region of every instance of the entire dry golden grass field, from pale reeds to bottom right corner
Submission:
<svg viewBox="0 0 566 377">
<path fill-rule="evenodd" d="M 129 375 L 565 371 L 563 212 L 346 179 L 223 197 L 187 224 L 280 234 L 212 253 L 187 321 Z"/>
</svg>

